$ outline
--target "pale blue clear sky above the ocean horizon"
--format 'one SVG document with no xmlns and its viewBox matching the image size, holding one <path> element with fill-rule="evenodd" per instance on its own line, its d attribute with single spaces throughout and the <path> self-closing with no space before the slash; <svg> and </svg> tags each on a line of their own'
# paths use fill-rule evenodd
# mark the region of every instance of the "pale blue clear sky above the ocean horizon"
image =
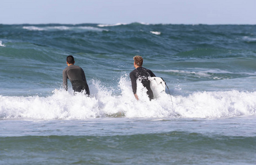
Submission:
<svg viewBox="0 0 256 165">
<path fill-rule="evenodd" d="M 0 0 L 0 24 L 256 24 L 256 0 Z"/>
</svg>

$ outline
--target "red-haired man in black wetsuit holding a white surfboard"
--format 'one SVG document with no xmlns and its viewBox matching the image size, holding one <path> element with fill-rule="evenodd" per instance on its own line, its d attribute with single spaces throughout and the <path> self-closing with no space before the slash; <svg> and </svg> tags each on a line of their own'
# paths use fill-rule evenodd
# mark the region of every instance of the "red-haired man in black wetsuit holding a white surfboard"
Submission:
<svg viewBox="0 0 256 165">
<path fill-rule="evenodd" d="M 134 92 L 135 98 L 138 100 L 138 96 L 136 94 L 137 92 L 136 80 L 140 80 L 142 85 L 146 87 L 147 95 L 151 100 L 153 99 L 154 96 L 150 88 L 150 80 L 148 80 L 148 77 L 155 77 L 156 75 L 154 75 L 153 72 L 151 72 L 151 70 L 143 68 L 142 64 L 143 64 L 143 58 L 141 56 L 135 56 L 134 57 L 135 69 L 130 73 L 132 91 Z"/>
</svg>

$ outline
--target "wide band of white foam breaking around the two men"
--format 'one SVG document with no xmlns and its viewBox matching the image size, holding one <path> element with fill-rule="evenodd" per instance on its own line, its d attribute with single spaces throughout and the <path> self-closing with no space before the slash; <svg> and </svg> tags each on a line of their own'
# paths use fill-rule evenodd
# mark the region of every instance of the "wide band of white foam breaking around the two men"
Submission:
<svg viewBox="0 0 256 165">
<path fill-rule="evenodd" d="M 63 90 L 47 97 L 0 96 L 0 119 L 86 119 L 124 116 L 127 118 L 228 118 L 256 115 L 256 92 L 195 92 L 189 96 L 161 94 L 149 101 L 138 83 L 135 100 L 129 78 L 121 78 L 121 93 L 89 85 L 91 97 Z M 173 101 L 173 102 L 172 102 Z"/>
</svg>

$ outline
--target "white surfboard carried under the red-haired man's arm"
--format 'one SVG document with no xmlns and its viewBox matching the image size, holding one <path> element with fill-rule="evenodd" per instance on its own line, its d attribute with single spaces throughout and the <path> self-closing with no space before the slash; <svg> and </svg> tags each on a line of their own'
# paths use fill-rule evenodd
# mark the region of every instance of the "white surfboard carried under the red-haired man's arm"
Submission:
<svg viewBox="0 0 256 165">
<path fill-rule="evenodd" d="M 156 98 L 161 92 L 166 91 L 166 83 L 162 78 L 152 77 L 150 80 L 150 88 L 153 91 L 154 98 Z"/>
</svg>

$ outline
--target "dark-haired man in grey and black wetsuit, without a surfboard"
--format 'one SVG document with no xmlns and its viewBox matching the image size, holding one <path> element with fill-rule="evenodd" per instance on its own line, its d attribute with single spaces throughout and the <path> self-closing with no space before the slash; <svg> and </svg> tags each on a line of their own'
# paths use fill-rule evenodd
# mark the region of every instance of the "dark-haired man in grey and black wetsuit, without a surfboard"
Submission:
<svg viewBox="0 0 256 165">
<path fill-rule="evenodd" d="M 86 75 L 82 68 L 74 65 L 73 56 L 67 57 L 67 65 L 68 67 L 66 67 L 62 72 L 63 87 L 65 90 L 67 91 L 67 79 L 70 79 L 74 92 L 82 92 L 85 90 L 86 94 L 89 96 L 90 90 L 86 81 Z"/>
</svg>

